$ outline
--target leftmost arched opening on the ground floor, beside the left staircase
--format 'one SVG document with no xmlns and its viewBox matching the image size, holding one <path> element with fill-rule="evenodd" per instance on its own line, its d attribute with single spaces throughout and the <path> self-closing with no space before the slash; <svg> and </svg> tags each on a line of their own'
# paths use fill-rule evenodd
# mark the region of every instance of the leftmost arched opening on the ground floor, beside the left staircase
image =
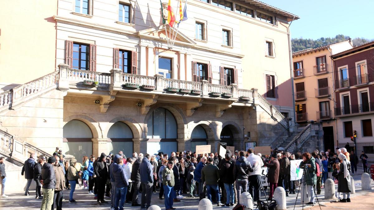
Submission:
<svg viewBox="0 0 374 210">
<path fill-rule="evenodd" d="M 65 155 L 73 155 L 79 161 L 92 154 L 92 132 L 86 123 L 71 120 L 62 130 L 62 152 Z"/>
</svg>

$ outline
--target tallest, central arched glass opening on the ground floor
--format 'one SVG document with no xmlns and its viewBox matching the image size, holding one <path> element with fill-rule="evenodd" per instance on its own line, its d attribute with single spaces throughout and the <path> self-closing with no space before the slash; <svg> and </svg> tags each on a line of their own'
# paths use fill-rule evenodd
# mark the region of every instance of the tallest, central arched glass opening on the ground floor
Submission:
<svg viewBox="0 0 374 210">
<path fill-rule="evenodd" d="M 177 151 L 177 121 L 165 108 L 154 109 L 147 120 L 147 153 Z"/>
</svg>

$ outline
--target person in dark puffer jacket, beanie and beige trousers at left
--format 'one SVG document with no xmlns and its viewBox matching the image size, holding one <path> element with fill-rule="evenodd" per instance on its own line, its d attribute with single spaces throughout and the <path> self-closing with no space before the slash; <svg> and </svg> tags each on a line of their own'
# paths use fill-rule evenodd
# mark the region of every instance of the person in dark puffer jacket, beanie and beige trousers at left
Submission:
<svg viewBox="0 0 374 210">
<path fill-rule="evenodd" d="M 52 164 L 56 162 L 55 157 L 49 157 L 48 163 L 43 165 L 40 183 L 43 187 L 43 200 L 40 210 L 49 210 L 53 204 L 53 196 L 55 194 L 55 185 L 56 185 L 56 175 L 55 169 L 53 169 Z"/>
</svg>

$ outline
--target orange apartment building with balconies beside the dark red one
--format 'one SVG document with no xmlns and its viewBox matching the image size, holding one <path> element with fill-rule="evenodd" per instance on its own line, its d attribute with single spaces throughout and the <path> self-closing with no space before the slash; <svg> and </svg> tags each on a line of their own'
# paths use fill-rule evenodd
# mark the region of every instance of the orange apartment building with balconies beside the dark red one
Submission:
<svg viewBox="0 0 374 210">
<path fill-rule="evenodd" d="M 351 40 L 292 53 L 296 122 L 321 121 L 324 149 L 337 145 L 334 116 L 334 65 L 330 58 L 351 49 Z"/>
</svg>

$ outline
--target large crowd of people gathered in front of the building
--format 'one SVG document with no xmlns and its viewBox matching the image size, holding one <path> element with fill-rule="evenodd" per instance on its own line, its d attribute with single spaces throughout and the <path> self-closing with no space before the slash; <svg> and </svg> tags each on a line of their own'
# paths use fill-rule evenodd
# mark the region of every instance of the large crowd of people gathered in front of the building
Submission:
<svg viewBox="0 0 374 210">
<path fill-rule="evenodd" d="M 367 160 L 364 152 L 360 158 Z M 300 159 L 299 167 L 306 170 L 305 177 L 303 181 L 291 181 L 290 161 Z M 270 157 L 254 154 L 251 148 L 234 154 L 227 150 L 224 157 L 217 152 L 199 155 L 191 151 L 171 152 L 170 157 L 163 152 L 154 155 L 134 152 L 132 157 L 126 157 L 120 151 L 116 155 L 101 153 L 98 158 L 84 156 L 82 163 L 74 158 L 65 160 L 62 151 L 56 148 L 51 157 L 38 158 L 31 154 L 25 161 L 22 175 L 27 179 L 25 195 L 29 195 L 32 180 L 36 182 L 36 198 L 42 199 L 41 210 L 62 209 L 64 189 L 70 190 L 69 202 L 76 203 L 77 186 L 93 195 L 98 205 L 108 203 L 104 196 L 110 197 L 114 210 L 122 210 L 125 204 L 147 209 L 151 206 L 153 192 L 159 191 L 159 199 L 165 201 L 166 210 L 171 210 L 175 209 L 174 202 L 180 202 L 184 195 L 199 197 L 199 200 L 207 197 L 217 206 L 230 207 L 239 203 L 242 192 L 249 191 L 256 204 L 260 202 L 261 188 L 269 188 L 271 200 L 278 186 L 285 189 L 288 197 L 305 182 L 310 195 L 307 205 L 314 205 L 314 189 L 320 194 L 327 178 L 338 183 L 339 201 L 350 202 L 350 172 L 357 171 L 357 163 L 357 155 L 346 148 L 337 148 L 336 153 L 330 149 L 327 152 L 315 150 L 311 154 L 272 149 Z M 0 173 L 4 180 L 1 164 L 2 158 Z M 261 184 L 261 167 L 268 168 L 267 186 Z M 2 186 L 4 188 L 4 184 Z"/>
</svg>

